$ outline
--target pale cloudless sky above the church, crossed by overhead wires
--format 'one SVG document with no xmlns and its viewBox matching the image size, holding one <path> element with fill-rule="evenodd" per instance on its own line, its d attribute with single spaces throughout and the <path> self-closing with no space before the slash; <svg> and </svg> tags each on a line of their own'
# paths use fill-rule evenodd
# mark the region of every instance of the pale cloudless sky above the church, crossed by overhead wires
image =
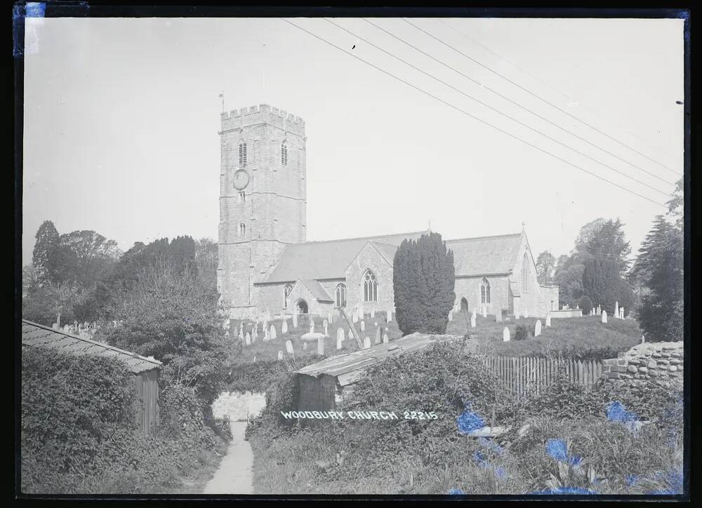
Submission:
<svg viewBox="0 0 702 508">
<path fill-rule="evenodd" d="M 654 201 L 668 200 L 323 19 L 292 20 L 562 159 Z M 673 190 L 363 20 L 335 21 L 552 138 L 665 193 Z M 675 101 L 684 100 L 683 20 L 445 20 L 489 51 L 439 20 L 412 21 L 682 174 L 683 107 Z M 677 180 L 406 22 L 373 22 L 598 147 Z M 44 220 L 60 233 L 94 229 L 123 250 L 164 236 L 217 239 L 222 92 L 227 110 L 265 103 L 305 120 L 308 240 L 413 232 L 429 221 L 444 239 L 456 239 L 519 232 L 524 221 L 534 256 L 543 250 L 558 256 L 586 222 L 618 217 L 636 252 L 654 215 L 665 212 L 276 18 L 34 18 L 25 34 L 24 263 Z"/>
</svg>

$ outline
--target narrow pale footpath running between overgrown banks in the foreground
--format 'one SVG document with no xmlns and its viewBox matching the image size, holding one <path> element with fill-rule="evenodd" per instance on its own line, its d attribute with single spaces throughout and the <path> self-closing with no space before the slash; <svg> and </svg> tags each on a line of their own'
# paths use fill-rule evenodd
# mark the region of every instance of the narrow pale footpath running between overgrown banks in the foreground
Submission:
<svg viewBox="0 0 702 508">
<path fill-rule="evenodd" d="M 246 422 L 230 422 L 232 441 L 203 494 L 253 494 L 253 450 L 244 441 Z"/>
</svg>

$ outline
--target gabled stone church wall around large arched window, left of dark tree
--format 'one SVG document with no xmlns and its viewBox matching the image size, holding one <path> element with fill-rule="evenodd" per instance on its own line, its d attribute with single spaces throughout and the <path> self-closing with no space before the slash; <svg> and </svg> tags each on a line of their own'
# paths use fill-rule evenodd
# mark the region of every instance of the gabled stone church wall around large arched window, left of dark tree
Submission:
<svg viewBox="0 0 702 508">
<path fill-rule="evenodd" d="M 364 302 L 363 276 L 370 269 L 376 276 L 376 302 Z M 370 312 L 373 306 L 376 310 L 395 308 L 395 293 L 392 291 L 392 265 L 383 258 L 378 250 L 370 243 L 359 251 L 358 255 L 346 269 L 346 308 L 349 312 L 357 305 L 362 305 L 364 312 Z"/>
</svg>

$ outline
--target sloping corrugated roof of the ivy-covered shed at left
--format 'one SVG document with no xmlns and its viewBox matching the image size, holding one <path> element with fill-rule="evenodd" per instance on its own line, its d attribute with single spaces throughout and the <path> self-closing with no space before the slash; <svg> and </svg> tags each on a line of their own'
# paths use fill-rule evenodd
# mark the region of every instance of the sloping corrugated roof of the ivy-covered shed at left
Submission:
<svg viewBox="0 0 702 508">
<path fill-rule="evenodd" d="M 129 370 L 135 374 L 154 368 L 161 368 L 162 365 L 156 359 L 149 359 L 102 342 L 95 342 L 84 337 L 54 330 L 26 319 L 22 319 L 22 345 L 48 347 L 73 355 L 95 354 L 98 356 L 116 357 L 124 361 Z"/>
</svg>

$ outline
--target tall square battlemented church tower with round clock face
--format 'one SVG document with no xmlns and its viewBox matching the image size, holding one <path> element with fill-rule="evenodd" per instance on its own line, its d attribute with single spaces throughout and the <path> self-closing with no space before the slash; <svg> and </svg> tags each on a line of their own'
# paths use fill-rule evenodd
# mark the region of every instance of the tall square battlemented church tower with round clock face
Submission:
<svg viewBox="0 0 702 508">
<path fill-rule="evenodd" d="M 221 120 L 217 287 L 232 318 L 255 317 L 253 283 L 307 237 L 305 122 L 265 104 Z"/>
</svg>

